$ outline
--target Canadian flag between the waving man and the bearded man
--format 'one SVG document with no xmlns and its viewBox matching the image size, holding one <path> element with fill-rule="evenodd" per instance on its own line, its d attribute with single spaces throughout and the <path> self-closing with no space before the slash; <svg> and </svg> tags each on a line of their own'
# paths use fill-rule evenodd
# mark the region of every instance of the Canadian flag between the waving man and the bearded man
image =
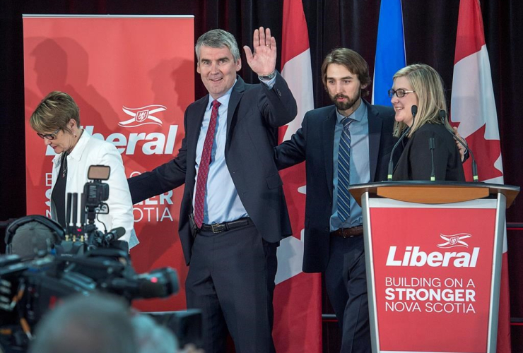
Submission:
<svg viewBox="0 0 523 353">
<path fill-rule="evenodd" d="M 288 140 L 303 116 L 314 109 L 309 35 L 301 0 L 283 1 L 282 76 L 298 104 L 298 115 L 280 129 Z M 283 136 L 283 138 L 282 138 Z M 274 290 L 274 345 L 278 353 L 322 352 L 322 280 L 319 273 L 302 273 L 305 225 L 305 163 L 281 172 L 293 237 L 278 248 Z"/>
</svg>

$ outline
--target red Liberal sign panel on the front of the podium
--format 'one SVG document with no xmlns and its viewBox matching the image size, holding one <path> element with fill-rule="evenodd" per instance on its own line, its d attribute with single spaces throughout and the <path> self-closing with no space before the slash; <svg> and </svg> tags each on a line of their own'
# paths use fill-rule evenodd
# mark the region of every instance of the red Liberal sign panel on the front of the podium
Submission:
<svg viewBox="0 0 523 353">
<path fill-rule="evenodd" d="M 389 201 L 370 201 L 380 352 L 486 352 L 496 201 Z"/>
</svg>

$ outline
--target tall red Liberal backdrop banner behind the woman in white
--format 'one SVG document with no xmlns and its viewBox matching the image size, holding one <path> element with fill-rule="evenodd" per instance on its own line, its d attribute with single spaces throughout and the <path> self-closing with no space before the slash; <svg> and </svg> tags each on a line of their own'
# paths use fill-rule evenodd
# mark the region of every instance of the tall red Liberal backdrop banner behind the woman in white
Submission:
<svg viewBox="0 0 523 353">
<path fill-rule="evenodd" d="M 127 177 L 177 154 L 194 101 L 192 16 L 24 16 L 25 120 L 47 93 L 69 93 L 81 125 L 113 143 Z M 49 215 L 52 148 L 25 125 L 28 214 Z M 134 207 L 136 271 L 177 268 L 182 289 L 146 311 L 185 308 L 187 268 L 177 237 L 182 188 Z"/>
</svg>

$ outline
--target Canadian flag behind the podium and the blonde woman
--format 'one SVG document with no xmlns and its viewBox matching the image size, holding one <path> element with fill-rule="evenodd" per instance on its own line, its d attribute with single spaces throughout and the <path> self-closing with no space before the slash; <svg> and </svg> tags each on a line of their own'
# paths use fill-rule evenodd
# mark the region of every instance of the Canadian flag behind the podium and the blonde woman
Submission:
<svg viewBox="0 0 523 353">
<path fill-rule="evenodd" d="M 503 184 L 498 116 L 478 0 L 461 0 L 459 3 L 451 118 L 477 157 L 479 181 Z M 470 159 L 464 164 L 467 181 L 472 180 L 470 164 Z M 497 352 L 510 353 L 506 233 L 501 272 Z"/>
</svg>

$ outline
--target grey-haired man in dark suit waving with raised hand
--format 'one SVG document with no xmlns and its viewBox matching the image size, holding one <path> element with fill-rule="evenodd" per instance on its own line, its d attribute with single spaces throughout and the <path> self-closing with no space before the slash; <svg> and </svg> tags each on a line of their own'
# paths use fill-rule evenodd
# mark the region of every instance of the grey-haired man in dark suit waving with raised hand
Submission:
<svg viewBox="0 0 523 353">
<path fill-rule="evenodd" d="M 273 148 L 296 102 L 276 72 L 270 30 L 254 31 L 254 53 L 244 49 L 261 84 L 237 76 L 233 35 L 199 37 L 197 71 L 209 94 L 187 107 L 177 157 L 129 179 L 134 203 L 185 184 L 179 234 L 190 263 L 187 307 L 202 311 L 206 353 L 225 352 L 227 329 L 238 353 L 274 352 L 276 247 L 292 234 Z"/>
</svg>

